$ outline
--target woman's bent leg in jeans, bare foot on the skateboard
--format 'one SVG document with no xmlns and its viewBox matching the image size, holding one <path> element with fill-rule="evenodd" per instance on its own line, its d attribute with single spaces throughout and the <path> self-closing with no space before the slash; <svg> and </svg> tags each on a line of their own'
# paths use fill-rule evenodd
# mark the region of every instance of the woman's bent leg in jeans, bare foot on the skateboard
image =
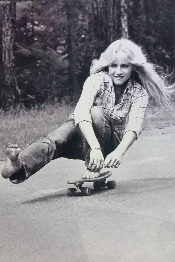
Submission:
<svg viewBox="0 0 175 262">
<path fill-rule="evenodd" d="M 114 135 L 114 128 L 109 114 L 100 106 L 91 108 L 91 118 L 94 133 L 102 148 L 104 158 L 115 150 L 118 146 L 117 138 Z M 87 142 L 84 144 L 84 151 L 86 152 L 85 166 L 89 166 L 90 148 Z M 87 169 L 88 170 L 88 169 Z M 89 170 L 90 171 L 90 170 Z M 94 177 L 92 172 L 86 172 L 83 178 Z"/>
</svg>

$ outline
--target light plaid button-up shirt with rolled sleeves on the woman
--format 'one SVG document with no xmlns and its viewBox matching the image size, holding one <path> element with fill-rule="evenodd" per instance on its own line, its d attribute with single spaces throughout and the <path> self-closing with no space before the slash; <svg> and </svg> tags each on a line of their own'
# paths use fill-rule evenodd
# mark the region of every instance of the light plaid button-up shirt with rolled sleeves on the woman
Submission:
<svg viewBox="0 0 175 262">
<path fill-rule="evenodd" d="M 108 72 L 91 75 L 84 83 L 83 91 L 75 111 L 69 119 L 75 119 L 78 125 L 81 121 L 91 122 L 90 110 L 93 105 L 103 107 L 110 115 L 114 133 L 121 142 L 127 131 L 136 133 L 137 138 L 142 133 L 142 121 L 148 103 L 148 93 L 136 81 L 129 79 L 123 93 L 122 102 L 115 105 L 115 91 Z M 129 116 L 126 125 L 126 118 Z"/>
</svg>

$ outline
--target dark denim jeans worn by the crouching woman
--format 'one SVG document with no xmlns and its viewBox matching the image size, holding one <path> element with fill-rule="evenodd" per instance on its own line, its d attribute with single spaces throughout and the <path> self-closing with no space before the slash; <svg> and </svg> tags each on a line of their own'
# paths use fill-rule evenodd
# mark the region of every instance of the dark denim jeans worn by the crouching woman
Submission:
<svg viewBox="0 0 175 262">
<path fill-rule="evenodd" d="M 91 108 L 94 133 L 102 148 L 104 158 L 115 150 L 118 141 L 114 135 L 112 120 L 100 106 Z M 35 174 L 51 160 L 59 157 L 79 159 L 89 165 L 90 147 L 74 120 L 68 120 L 46 138 L 33 143 L 20 153 L 22 168 L 10 177 L 14 184 L 21 183 Z"/>
</svg>

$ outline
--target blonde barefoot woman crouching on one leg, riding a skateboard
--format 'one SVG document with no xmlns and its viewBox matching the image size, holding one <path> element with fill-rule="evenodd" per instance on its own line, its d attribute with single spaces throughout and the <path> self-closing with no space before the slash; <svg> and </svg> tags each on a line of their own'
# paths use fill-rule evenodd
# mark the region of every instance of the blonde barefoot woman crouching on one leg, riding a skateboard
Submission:
<svg viewBox="0 0 175 262">
<path fill-rule="evenodd" d="M 69 120 L 21 154 L 17 145 L 9 145 L 2 176 L 21 183 L 58 157 L 85 160 L 82 178 L 98 177 L 103 166 L 118 167 L 142 133 L 148 97 L 170 107 L 172 88 L 146 61 L 139 46 L 126 39 L 113 42 L 93 61 Z"/>
</svg>

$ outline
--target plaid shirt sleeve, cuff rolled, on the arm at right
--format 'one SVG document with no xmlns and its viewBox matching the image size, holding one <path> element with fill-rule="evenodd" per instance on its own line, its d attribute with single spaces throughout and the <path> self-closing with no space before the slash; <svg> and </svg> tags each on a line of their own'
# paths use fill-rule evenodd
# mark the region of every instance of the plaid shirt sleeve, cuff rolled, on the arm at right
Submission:
<svg viewBox="0 0 175 262">
<path fill-rule="evenodd" d="M 137 139 L 142 131 L 142 122 L 145 115 L 146 106 L 148 104 L 148 93 L 143 90 L 137 97 L 131 98 L 131 110 L 129 113 L 129 120 L 124 131 L 133 131 L 137 135 Z"/>
</svg>

